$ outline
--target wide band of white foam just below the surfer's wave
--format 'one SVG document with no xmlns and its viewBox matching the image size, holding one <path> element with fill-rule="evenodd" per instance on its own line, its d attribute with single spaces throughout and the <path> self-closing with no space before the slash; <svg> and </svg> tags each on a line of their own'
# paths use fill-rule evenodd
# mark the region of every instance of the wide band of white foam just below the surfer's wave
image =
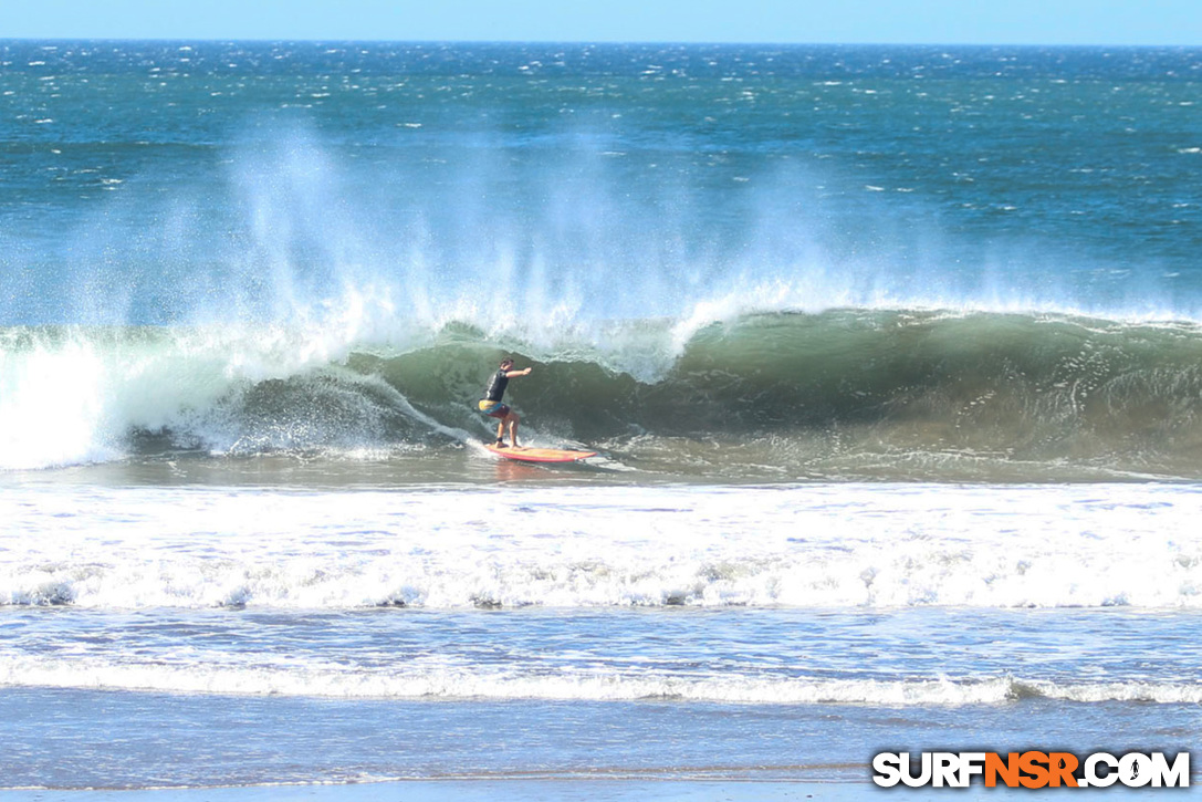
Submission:
<svg viewBox="0 0 1202 802">
<path fill-rule="evenodd" d="M 6 605 L 1202 607 L 1194 486 L 23 498 Z"/>
</svg>

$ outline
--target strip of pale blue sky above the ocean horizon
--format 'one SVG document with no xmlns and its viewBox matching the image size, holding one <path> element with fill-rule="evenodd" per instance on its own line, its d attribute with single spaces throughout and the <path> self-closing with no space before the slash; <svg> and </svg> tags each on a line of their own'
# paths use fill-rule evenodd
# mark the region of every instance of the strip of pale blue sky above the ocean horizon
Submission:
<svg viewBox="0 0 1202 802">
<path fill-rule="evenodd" d="M 0 38 L 1202 44 L 1202 0 L 0 0 Z"/>
</svg>

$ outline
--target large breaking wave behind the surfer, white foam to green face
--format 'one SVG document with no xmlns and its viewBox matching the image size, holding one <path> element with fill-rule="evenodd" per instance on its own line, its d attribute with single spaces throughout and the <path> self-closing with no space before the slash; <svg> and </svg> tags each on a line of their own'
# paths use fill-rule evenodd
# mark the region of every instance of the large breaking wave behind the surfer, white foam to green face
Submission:
<svg viewBox="0 0 1202 802">
<path fill-rule="evenodd" d="M 679 344 L 664 321 L 545 345 L 466 325 L 407 344 L 340 334 L 5 329 L 4 467 L 462 453 L 512 354 L 534 367 L 506 396 L 528 439 L 644 475 L 1197 476 L 1195 323 L 845 309 L 715 321 Z"/>
</svg>

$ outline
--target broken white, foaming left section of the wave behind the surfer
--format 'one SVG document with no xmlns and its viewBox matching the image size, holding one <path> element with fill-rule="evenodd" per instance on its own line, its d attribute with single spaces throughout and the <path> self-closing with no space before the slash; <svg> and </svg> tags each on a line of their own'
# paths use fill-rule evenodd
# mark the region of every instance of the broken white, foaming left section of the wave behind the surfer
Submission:
<svg viewBox="0 0 1202 802">
<path fill-rule="evenodd" d="M 346 369 L 357 333 L 325 319 L 0 329 L 0 470 L 458 438 L 386 382 Z"/>
</svg>

